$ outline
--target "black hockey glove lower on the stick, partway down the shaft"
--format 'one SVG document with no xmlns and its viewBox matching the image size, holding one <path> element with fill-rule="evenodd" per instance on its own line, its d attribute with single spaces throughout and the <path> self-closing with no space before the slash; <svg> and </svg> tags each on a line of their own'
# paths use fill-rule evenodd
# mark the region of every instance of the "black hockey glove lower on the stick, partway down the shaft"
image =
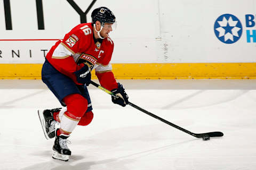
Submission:
<svg viewBox="0 0 256 170">
<path fill-rule="evenodd" d="M 117 96 L 111 96 L 112 101 L 114 104 L 118 104 L 121 106 L 126 106 L 128 104 L 128 95 L 126 94 L 126 92 L 124 91 L 123 85 L 118 83 L 118 88 L 117 89 L 113 89 L 111 90 L 111 92 L 113 92 L 113 94 L 115 94 Z"/>
</svg>

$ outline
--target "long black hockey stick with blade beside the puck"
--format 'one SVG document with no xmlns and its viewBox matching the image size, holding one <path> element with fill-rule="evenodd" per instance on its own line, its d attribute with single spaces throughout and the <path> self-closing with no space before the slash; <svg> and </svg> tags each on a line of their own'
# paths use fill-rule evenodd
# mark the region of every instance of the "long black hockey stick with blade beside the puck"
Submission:
<svg viewBox="0 0 256 170">
<path fill-rule="evenodd" d="M 99 84 L 97 84 L 97 83 L 95 83 L 95 82 L 93 82 L 93 81 L 91 81 L 91 84 L 92 84 L 93 86 L 95 86 L 95 87 L 97 87 L 97 88 L 99 88 L 99 89 L 101 89 L 101 90 L 107 92 L 109 95 L 116 97 L 115 94 L 113 94 L 113 92 L 111 92 L 111 91 L 109 91 L 109 90 L 103 88 L 103 87 L 100 86 Z M 151 116 L 151 117 L 154 117 L 154 118 L 158 119 L 158 120 L 161 121 L 161 122 L 164 122 L 164 123 L 166 123 L 166 124 L 169 124 L 170 126 L 173 126 L 173 127 L 176 128 L 176 129 L 179 129 L 179 130 L 181 130 L 181 131 L 183 131 L 183 132 L 185 132 L 185 133 L 188 133 L 188 134 L 190 134 L 190 135 L 193 135 L 193 136 L 196 137 L 196 138 L 203 138 L 203 139 L 204 139 L 204 138 L 207 138 L 207 137 L 222 137 L 222 136 L 223 136 L 223 133 L 222 133 L 222 132 L 193 133 L 193 132 L 190 132 L 190 131 L 188 131 L 188 130 L 186 130 L 186 129 L 181 128 L 181 127 L 178 126 L 178 125 L 175 125 L 175 124 L 173 124 L 173 123 L 171 123 L 171 122 L 168 122 L 168 121 L 164 120 L 163 118 L 158 117 L 158 116 L 154 115 L 153 113 L 150 113 L 150 112 L 146 111 L 145 109 L 143 109 L 143 108 L 141 108 L 141 107 L 139 107 L 139 106 L 137 106 L 137 105 L 132 104 L 130 101 L 128 102 L 128 105 L 130 105 L 130 106 L 132 106 L 132 107 L 138 109 L 139 111 L 141 111 L 141 112 L 143 112 L 143 113 L 146 113 L 147 115 L 149 115 L 149 116 Z"/>
</svg>

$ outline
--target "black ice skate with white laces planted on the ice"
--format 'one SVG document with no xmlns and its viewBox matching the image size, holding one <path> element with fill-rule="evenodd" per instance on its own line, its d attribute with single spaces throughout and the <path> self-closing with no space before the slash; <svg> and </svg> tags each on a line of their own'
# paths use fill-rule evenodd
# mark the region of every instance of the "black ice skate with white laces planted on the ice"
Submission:
<svg viewBox="0 0 256 170">
<path fill-rule="evenodd" d="M 59 129 L 57 129 L 57 131 L 58 130 Z M 67 143 L 70 143 L 70 141 L 67 140 L 69 135 L 60 134 L 60 136 L 58 136 L 57 131 L 56 131 L 56 138 L 54 141 L 54 145 L 52 147 L 52 150 L 53 150 L 52 157 L 54 159 L 68 161 L 69 156 L 71 155 L 71 151 L 68 149 L 68 146 L 67 146 Z"/>
</svg>

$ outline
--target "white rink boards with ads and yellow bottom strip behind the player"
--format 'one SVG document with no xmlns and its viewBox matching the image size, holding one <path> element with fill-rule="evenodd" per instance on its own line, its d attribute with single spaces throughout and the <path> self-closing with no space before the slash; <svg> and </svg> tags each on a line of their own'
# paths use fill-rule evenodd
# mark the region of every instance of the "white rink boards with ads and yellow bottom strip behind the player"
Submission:
<svg viewBox="0 0 256 170">
<path fill-rule="evenodd" d="M 22 1 L 0 1 L 0 78 L 39 79 L 56 41 L 77 24 L 91 22 L 94 8 L 107 6 L 117 21 L 110 37 L 118 79 L 254 79 L 255 4 L 27 0 L 24 6 Z"/>
</svg>

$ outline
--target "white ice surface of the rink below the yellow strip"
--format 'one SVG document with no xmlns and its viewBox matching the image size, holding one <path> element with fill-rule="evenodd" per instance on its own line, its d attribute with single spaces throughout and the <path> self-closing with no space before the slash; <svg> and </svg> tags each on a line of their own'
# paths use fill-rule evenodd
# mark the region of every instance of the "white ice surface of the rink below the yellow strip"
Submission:
<svg viewBox="0 0 256 170">
<path fill-rule="evenodd" d="M 94 118 L 70 137 L 68 162 L 52 159 L 37 109 L 59 107 L 41 80 L 0 80 L 0 169 L 256 169 L 255 80 L 119 80 L 132 103 L 195 133 L 111 103 L 89 87 Z"/>
</svg>

